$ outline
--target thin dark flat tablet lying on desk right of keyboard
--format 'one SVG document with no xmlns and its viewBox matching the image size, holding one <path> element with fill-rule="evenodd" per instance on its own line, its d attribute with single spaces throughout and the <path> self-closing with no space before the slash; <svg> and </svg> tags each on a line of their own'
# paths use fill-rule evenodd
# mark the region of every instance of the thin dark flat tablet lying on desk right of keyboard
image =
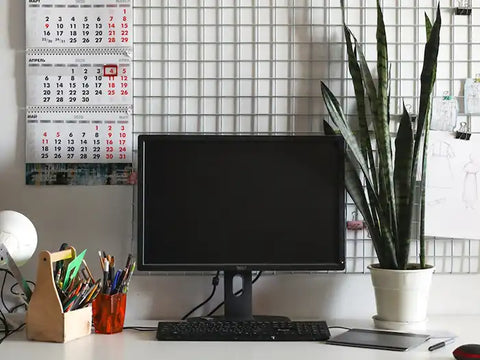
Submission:
<svg viewBox="0 0 480 360">
<path fill-rule="evenodd" d="M 350 329 L 329 340 L 327 344 L 364 347 L 381 350 L 406 351 L 418 346 L 430 338 L 430 335 Z"/>
</svg>

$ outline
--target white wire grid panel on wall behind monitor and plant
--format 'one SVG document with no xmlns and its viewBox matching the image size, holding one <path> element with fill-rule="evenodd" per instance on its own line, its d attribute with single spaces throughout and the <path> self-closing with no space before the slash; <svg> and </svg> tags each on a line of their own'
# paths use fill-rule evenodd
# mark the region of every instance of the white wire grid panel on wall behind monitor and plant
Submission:
<svg viewBox="0 0 480 360">
<path fill-rule="evenodd" d="M 376 1 L 345 0 L 346 23 L 376 58 Z M 383 0 L 391 64 L 391 108 L 418 106 L 425 43 L 424 13 L 436 0 Z M 466 78 L 480 73 L 480 6 L 442 13 L 436 96 L 463 104 Z M 340 0 L 134 0 L 134 132 L 321 132 L 324 81 L 354 118 Z M 460 108 L 459 122 L 480 131 Z M 136 145 L 135 145 L 136 147 Z M 347 201 L 346 216 L 354 205 Z M 412 243 L 412 254 L 417 243 Z M 437 272 L 479 272 L 478 240 L 427 241 Z M 412 257 L 412 261 L 416 259 Z M 346 272 L 367 271 L 375 254 L 365 231 L 347 231 Z"/>
</svg>

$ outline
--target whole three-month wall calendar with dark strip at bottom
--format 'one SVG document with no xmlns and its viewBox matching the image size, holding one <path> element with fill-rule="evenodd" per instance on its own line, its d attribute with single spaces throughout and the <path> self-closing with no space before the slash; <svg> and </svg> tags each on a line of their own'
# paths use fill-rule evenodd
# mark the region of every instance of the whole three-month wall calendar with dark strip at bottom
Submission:
<svg viewBox="0 0 480 360">
<path fill-rule="evenodd" d="M 27 0 L 27 184 L 135 182 L 131 1 Z"/>
</svg>

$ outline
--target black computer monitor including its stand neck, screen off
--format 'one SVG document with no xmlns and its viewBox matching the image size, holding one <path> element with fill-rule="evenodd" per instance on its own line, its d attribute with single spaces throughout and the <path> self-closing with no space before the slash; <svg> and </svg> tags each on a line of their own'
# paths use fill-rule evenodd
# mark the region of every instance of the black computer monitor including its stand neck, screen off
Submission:
<svg viewBox="0 0 480 360">
<path fill-rule="evenodd" d="M 252 271 L 344 269 L 344 149 L 337 136 L 140 135 L 139 270 L 221 270 L 225 316 L 251 319 Z"/>
</svg>

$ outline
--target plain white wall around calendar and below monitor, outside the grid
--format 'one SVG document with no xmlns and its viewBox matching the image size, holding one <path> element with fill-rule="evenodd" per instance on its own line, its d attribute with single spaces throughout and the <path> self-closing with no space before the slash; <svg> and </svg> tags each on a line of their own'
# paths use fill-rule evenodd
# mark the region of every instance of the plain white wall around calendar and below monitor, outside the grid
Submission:
<svg viewBox="0 0 480 360">
<path fill-rule="evenodd" d="M 98 250 L 121 259 L 130 251 L 132 188 L 24 185 L 24 27 L 24 1 L 0 0 L 0 208 L 34 222 L 38 249 L 55 250 L 64 241 L 88 248 L 87 261 L 99 276 Z M 36 257 L 24 267 L 27 278 L 35 278 L 35 267 Z M 479 283 L 480 275 L 435 275 L 430 313 L 480 313 Z M 210 291 L 210 277 L 139 275 L 127 316 L 179 318 Z M 265 276 L 254 298 L 256 313 L 293 318 L 368 318 L 375 312 L 370 278 L 360 274 Z"/>
</svg>

